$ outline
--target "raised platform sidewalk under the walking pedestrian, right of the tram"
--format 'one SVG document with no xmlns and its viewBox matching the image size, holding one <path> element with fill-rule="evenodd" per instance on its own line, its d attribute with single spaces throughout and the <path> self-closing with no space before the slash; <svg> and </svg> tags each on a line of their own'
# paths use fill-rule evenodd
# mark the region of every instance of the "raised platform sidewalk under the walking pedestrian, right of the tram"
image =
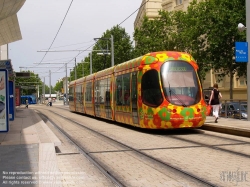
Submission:
<svg viewBox="0 0 250 187">
<path fill-rule="evenodd" d="M 234 118 L 221 117 L 218 119 L 218 123 L 214 123 L 214 117 L 207 116 L 205 124 L 201 129 L 250 137 L 250 121 Z"/>
</svg>

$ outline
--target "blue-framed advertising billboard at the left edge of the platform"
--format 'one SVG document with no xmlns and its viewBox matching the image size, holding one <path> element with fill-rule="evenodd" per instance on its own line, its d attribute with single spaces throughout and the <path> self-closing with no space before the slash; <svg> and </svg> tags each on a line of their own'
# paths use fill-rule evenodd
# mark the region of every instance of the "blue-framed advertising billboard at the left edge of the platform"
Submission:
<svg viewBox="0 0 250 187">
<path fill-rule="evenodd" d="M 9 81 L 8 71 L 0 69 L 0 132 L 9 131 Z"/>
</svg>

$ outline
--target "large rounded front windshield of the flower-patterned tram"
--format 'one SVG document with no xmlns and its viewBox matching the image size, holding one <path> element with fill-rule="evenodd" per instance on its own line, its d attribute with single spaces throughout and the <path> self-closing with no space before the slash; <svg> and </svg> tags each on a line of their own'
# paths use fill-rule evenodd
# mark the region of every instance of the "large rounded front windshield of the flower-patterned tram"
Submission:
<svg viewBox="0 0 250 187">
<path fill-rule="evenodd" d="M 175 105 L 190 106 L 201 99 L 197 74 L 185 61 L 167 61 L 161 67 L 161 81 L 166 99 Z"/>
</svg>

